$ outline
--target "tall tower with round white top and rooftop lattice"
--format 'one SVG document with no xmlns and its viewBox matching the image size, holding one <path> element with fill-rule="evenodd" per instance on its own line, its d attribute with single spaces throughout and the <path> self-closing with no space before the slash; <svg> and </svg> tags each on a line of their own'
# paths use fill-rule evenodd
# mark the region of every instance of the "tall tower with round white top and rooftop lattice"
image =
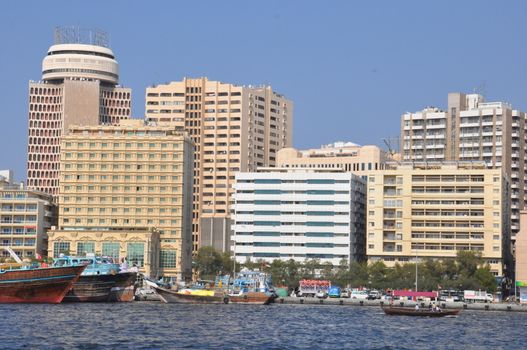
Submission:
<svg viewBox="0 0 527 350">
<path fill-rule="evenodd" d="M 60 140 L 70 125 L 115 124 L 130 117 L 131 89 L 118 86 L 119 65 L 105 33 L 57 28 L 29 83 L 27 185 L 59 191 Z"/>
</svg>

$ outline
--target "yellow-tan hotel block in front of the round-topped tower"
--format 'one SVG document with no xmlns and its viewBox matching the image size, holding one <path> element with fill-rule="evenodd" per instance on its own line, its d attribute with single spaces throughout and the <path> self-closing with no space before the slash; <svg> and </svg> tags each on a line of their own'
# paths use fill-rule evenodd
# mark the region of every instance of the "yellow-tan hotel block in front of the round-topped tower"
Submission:
<svg viewBox="0 0 527 350">
<path fill-rule="evenodd" d="M 77 254 L 117 250 L 143 269 L 149 265 L 162 276 L 189 278 L 192 155 L 192 141 L 174 126 L 126 120 L 119 126 L 70 127 L 62 139 L 51 254 L 66 245 Z M 112 244 L 105 248 L 102 241 Z"/>
</svg>

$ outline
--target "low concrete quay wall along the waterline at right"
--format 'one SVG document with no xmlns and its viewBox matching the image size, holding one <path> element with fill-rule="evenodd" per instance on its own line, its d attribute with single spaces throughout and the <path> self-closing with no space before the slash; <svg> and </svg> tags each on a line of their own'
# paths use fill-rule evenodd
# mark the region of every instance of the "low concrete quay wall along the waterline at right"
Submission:
<svg viewBox="0 0 527 350">
<path fill-rule="evenodd" d="M 390 305 L 386 300 L 358 300 L 347 298 L 294 298 L 285 297 L 275 299 L 275 304 L 305 304 L 305 305 L 343 305 L 343 306 L 381 306 Z M 417 302 L 420 307 L 427 308 L 429 302 Z M 396 300 L 393 306 L 415 307 L 415 301 Z M 481 311 L 515 311 L 527 312 L 527 305 L 508 304 L 508 303 L 462 303 L 462 302 L 436 302 L 443 309 L 465 309 Z"/>
</svg>

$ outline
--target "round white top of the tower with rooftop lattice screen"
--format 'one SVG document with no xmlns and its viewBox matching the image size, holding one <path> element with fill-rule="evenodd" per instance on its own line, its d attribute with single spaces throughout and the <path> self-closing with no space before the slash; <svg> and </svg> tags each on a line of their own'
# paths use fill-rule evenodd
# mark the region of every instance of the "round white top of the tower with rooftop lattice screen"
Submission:
<svg viewBox="0 0 527 350">
<path fill-rule="evenodd" d="M 87 79 L 116 85 L 119 64 L 106 33 L 77 27 L 55 28 L 55 45 L 42 61 L 42 79 Z"/>
</svg>

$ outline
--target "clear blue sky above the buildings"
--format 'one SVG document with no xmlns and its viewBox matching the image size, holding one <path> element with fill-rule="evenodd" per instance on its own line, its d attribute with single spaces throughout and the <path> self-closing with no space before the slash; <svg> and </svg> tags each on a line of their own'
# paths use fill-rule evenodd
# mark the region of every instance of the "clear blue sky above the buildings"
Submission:
<svg viewBox="0 0 527 350">
<path fill-rule="evenodd" d="M 25 179 L 28 81 L 58 25 L 109 32 L 121 84 L 207 76 L 295 103 L 295 147 L 382 144 L 400 116 L 485 86 L 527 110 L 526 1 L 1 1 L 0 169 Z"/>
</svg>

